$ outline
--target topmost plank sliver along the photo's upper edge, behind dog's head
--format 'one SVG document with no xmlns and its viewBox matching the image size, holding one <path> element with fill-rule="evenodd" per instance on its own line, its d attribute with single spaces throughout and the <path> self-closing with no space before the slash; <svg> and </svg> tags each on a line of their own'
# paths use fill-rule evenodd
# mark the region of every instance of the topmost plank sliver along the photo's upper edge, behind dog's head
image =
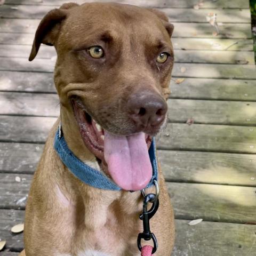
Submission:
<svg viewBox="0 0 256 256">
<path fill-rule="evenodd" d="M 90 3 L 94 2 L 93 0 L 77 0 L 76 3 Z M 108 0 L 99 0 L 98 2 L 108 2 Z M 112 2 L 118 2 L 119 0 L 113 0 Z M 31 5 L 61 5 L 66 3 L 65 0 L 55 0 L 54 2 L 51 0 L 6 0 L 5 4 L 31 4 Z M 124 4 L 133 4 L 139 5 L 144 7 L 172 7 L 172 8 L 190 8 L 194 5 L 198 4 L 198 0 L 123 0 L 122 3 Z M 226 0 L 219 0 L 219 1 L 205 1 L 201 8 L 249 8 L 249 1 L 241 1 L 241 0 L 233 0 L 233 1 L 226 1 Z"/>
</svg>

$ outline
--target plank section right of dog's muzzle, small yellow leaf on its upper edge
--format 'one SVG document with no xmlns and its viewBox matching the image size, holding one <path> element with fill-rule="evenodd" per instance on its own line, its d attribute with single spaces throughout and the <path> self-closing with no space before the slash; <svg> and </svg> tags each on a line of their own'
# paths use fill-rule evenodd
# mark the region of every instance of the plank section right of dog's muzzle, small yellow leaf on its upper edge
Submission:
<svg viewBox="0 0 256 256">
<path fill-rule="evenodd" d="M 254 80 L 186 78 L 180 84 L 174 81 L 170 83 L 170 98 L 255 101 Z"/>
</svg>

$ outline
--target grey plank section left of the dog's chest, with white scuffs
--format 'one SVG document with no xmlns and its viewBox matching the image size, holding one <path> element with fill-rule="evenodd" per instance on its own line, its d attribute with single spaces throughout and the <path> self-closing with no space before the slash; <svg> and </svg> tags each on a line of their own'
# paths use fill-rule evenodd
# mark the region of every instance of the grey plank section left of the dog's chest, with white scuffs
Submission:
<svg viewBox="0 0 256 256">
<path fill-rule="evenodd" d="M 0 173 L 0 177 L 1 209 L 25 209 L 33 175 Z M 15 180 L 16 177 L 20 178 L 20 182 Z"/>
</svg>

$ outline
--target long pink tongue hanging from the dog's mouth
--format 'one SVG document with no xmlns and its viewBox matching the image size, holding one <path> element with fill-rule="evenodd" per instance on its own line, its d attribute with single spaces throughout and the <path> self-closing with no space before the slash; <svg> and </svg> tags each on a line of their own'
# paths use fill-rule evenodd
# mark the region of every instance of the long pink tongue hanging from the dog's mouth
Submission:
<svg viewBox="0 0 256 256">
<path fill-rule="evenodd" d="M 104 158 L 116 184 L 124 190 L 141 190 L 152 177 L 145 133 L 118 136 L 104 131 Z"/>
</svg>

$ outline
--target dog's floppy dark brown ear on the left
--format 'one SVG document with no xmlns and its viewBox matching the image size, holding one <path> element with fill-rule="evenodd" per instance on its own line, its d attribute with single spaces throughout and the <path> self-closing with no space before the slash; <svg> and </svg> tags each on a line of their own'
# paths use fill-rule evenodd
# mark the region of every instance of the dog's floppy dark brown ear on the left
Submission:
<svg viewBox="0 0 256 256">
<path fill-rule="evenodd" d="M 55 44 L 59 35 L 61 21 L 67 17 L 67 9 L 74 6 L 78 6 L 78 4 L 63 4 L 59 9 L 51 10 L 44 16 L 36 30 L 33 46 L 29 55 L 29 61 L 35 59 L 41 43 L 46 45 Z"/>
</svg>

